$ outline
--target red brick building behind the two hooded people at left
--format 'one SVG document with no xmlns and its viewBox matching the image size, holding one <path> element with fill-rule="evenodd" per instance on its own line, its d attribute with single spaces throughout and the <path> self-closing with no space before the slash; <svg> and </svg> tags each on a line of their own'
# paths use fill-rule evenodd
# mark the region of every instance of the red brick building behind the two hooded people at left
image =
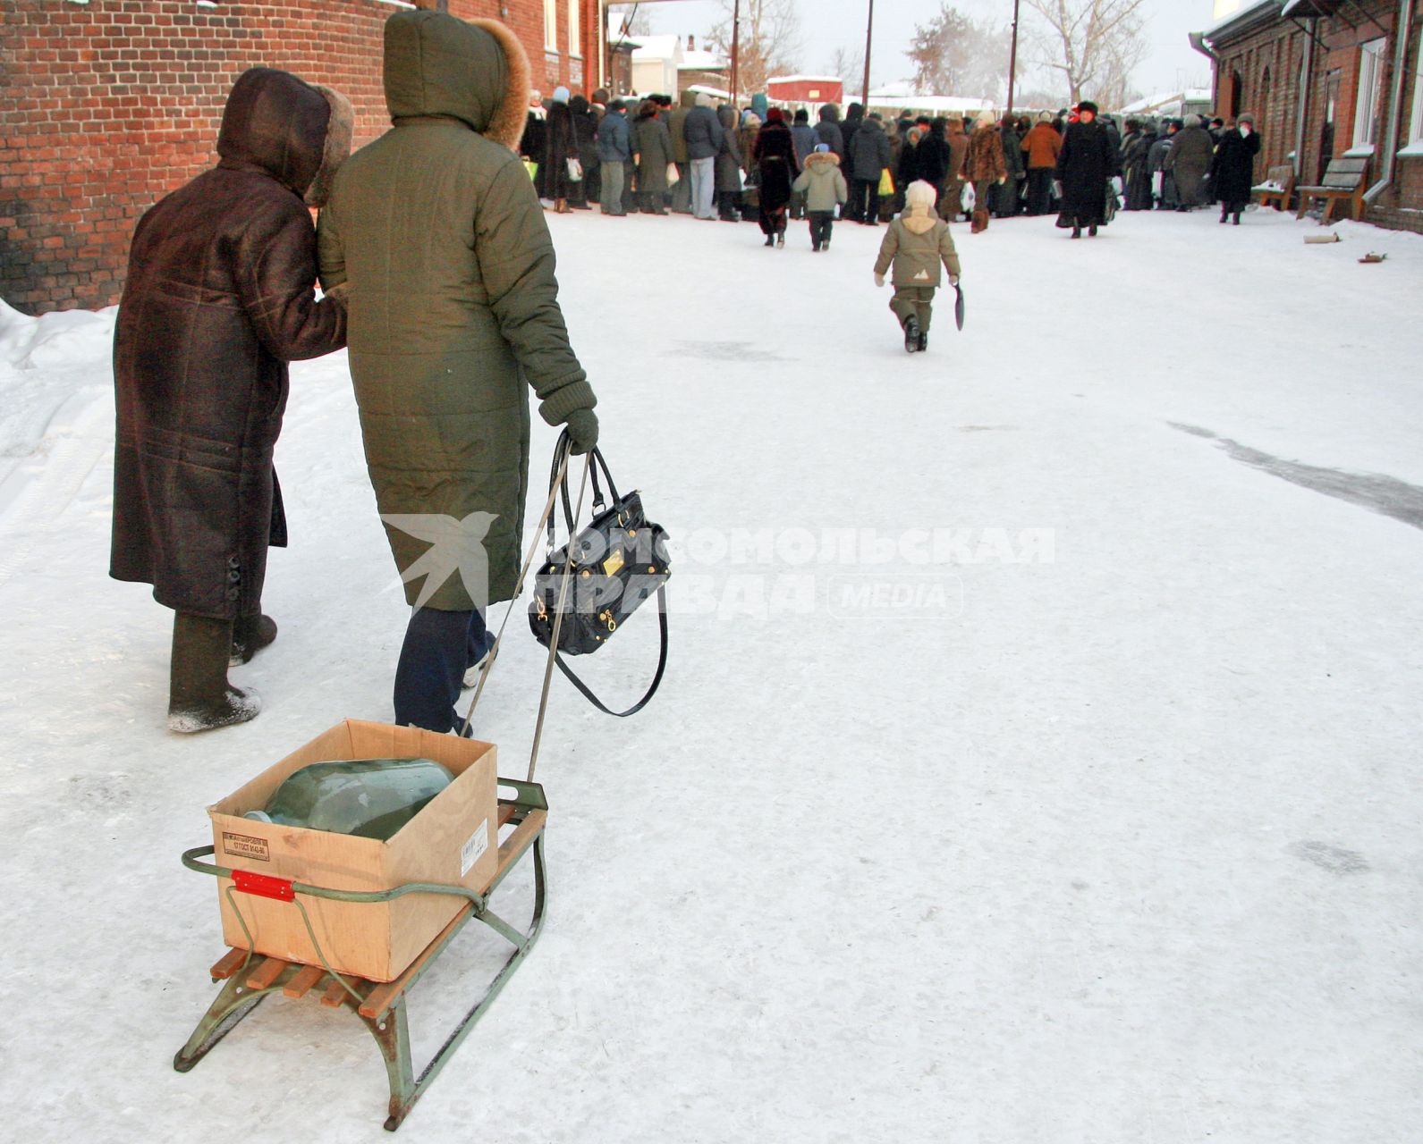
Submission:
<svg viewBox="0 0 1423 1144">
<path fill-rule="evenodd" d="M 222 105 L 249 67 L 295 71 L 390 121 L 381 28 L 403 7 L 495 17 L 534 82 L 598 87 L 601 0 L 9 0 L 0 13 L 0 298 L 30 314 L 118 301 L 138 216 L 216 162 Z"/>
</svg>

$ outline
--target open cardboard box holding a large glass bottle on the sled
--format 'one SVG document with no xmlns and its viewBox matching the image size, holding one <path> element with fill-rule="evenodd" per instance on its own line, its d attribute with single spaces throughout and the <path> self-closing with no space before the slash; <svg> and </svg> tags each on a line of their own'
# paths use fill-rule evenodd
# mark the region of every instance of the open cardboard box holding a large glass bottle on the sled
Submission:
<svg viewBox="0 0 1423 1144">
<path fill-rule="evenodd" d="M 387 841 L 243 819 L 307 763 L 332 759 L 424 757 L 443 763 L 454 782 Z M 418 728 L 350 719 L 319 735 L 226 799 L 208 807 L 218 865 L 290 878 L 327 890 L 391 890 L 440 883 L 484 890 L 498 867 L 498 803 L 492 743 Z M 218 880 L 222 937 L 248 942 L 228 902 L 231 878 Z M 233 894 L 256 952 L 320 965 L 293 902 Z M 406 894 L 388 902 L 339 902 L 300 895 L 330 965 L 370 981 L 394 981 L 448 925 L 461 898 Z"/>
</svg>

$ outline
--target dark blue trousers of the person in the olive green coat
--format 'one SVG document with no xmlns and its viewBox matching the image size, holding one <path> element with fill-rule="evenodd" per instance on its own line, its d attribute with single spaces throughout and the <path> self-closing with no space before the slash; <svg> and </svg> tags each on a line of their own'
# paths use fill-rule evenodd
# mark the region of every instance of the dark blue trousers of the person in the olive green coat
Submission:
<svg viewBox="0 0 1423 1144">
<path fill-rule="evenodd" d="M 490 649 L 484 613 L 416 608 L 396 667 L 396 723 L 453 730 L 464 674 Z"/>
</svg>

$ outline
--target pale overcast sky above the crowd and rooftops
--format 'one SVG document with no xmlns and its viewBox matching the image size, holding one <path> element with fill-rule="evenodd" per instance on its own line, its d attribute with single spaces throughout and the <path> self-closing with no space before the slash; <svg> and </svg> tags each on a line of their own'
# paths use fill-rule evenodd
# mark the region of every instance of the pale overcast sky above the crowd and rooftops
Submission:
<svg viewBox="0 0 1423 1144">
<path fill-rule="evenodd" d="M 864 47 L 867 0 L 797 0 L 801 13 L 801 70 L 824 71 L 838 47 Z M 1013 0 L 951 0 L 965 16 L 1013 18 Z M 620 9 L 630 11 L 630 9 Z M 660 33 L 693 33 L 699 40 L 720 18 L 716 0 L 676 0 L 645 4 L 653 28 Z M 914 36 L 915 23 L 926 23 L 939 11 L 938 0 L 875 0 L 875 50 L 871 82 L 906 78 L 912 68 L 904 51 Z M 1144 94 L 1173 91 L 1210 82 L 1210 64 L 1191 50 L 1187 33 L 1211 24 L 1212 0 L 1146 0 L 1148 51 L 1137 70 L 1136 85 Z M 1022 20 L 1030 20 L 1023 4 Z M 1032 77 L 1022 77 L 1020 84 Z M 962 94 L 962 92 L 946 92 Z"/>
</svg>

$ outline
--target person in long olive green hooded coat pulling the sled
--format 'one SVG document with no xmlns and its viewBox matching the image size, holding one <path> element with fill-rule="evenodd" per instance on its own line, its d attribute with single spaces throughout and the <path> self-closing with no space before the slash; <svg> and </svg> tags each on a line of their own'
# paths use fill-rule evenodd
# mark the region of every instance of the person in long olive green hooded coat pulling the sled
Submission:
<svg viewBox="0 0 1423 1144">
<path fill-rule="evenodd" d="M 396 721 L 448 730 L 487 652 L 481 608 L 514 595 L 529 399 L 598 441 L 558 306 L 554 244 L 518 156 L 529 67 L 512 31 L 430 10 L 386 21 L 393 126 L 337 175 L 322 283 L 349 290 L 366 463 L 414 607 Z"/>
</svg>

